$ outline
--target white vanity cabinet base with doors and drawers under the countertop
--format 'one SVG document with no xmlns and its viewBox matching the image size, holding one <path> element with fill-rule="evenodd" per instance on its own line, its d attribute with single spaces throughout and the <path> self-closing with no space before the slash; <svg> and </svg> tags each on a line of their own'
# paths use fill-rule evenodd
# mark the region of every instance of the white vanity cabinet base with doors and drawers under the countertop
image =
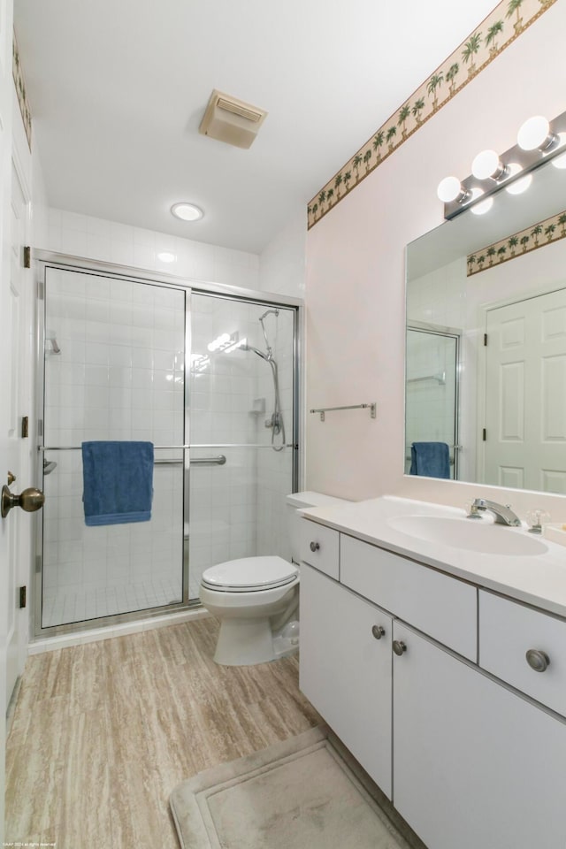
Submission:
<svg viewBox="0 0 566 849">
<path fill-rule="evenodd" d="M 428 849 L 566 849 L 566 622 L 338 533 L 336 579 L 301 568 L 302 691 Z"/>
</svg>

